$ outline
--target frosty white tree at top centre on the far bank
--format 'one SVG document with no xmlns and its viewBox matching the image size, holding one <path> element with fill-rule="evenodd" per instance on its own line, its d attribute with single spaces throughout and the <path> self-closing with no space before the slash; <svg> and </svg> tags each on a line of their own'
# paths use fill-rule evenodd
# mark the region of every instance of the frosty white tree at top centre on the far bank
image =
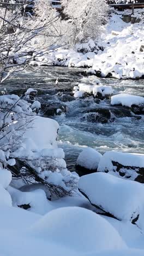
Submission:
<svg viewBox="0 0 144 256">
<path fill-rule="evenodd" d="M 88 38 L 95 39 L 101 31 L 101 25 L 107 20 L 109 9 L 105 0 L 63 0 L 62 7 L 72 44 Z"/>
</svg>

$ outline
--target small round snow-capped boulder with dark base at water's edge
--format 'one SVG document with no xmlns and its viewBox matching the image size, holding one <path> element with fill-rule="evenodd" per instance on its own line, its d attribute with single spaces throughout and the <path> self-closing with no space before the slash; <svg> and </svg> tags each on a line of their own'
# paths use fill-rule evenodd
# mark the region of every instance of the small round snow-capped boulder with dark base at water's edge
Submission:
<svg viewBox="0 0 144 256">
<path fill-rule="evenodd" d="M 102 155 L 93 148 L 85 148 L 82 150 L 76 160 L 76 168 L 79 174 L 88 174 L 96 172 Z"/>
</svg>

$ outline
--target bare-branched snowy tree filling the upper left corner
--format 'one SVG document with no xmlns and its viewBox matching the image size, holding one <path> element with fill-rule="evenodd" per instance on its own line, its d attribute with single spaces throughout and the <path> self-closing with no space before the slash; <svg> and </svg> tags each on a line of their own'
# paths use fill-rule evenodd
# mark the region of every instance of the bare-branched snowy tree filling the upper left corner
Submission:
<svg viewBox="0 0 144 256">
<path fill-rule="evenodd" d="M 0 83 L 53 45 L 56 48 L 61 39 L 61 20 L 50 2 L 38 0 L 33 15 L 26 13 L 28 4 L 5 0 L 0 5 Z"/>
</svg>

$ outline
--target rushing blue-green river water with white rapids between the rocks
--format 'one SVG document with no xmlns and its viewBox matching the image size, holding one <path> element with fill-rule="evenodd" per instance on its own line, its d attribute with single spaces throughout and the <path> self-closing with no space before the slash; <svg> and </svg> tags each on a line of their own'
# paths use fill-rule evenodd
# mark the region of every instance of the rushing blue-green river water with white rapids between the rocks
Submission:
<svg viewBox="0 0 144 256">
<path fill-rule="evenodd" d="M 34 67 L 15 74 L 1 85 L 10 93 L 19 95 L 27 88 L 39 91 L 39 98 L 45 98 L 49 103 L 67 105 L 68 113 L 55 115 L 60 129 L 58 145 L 65 152 L 65 160 L 69 170 L 75 171 L 75 162 L 81 150 L 85 147 L 97 149 L 100 153 L 107 150 L 144 153 L 144 118 L 137 120 L 131 117 L 117 118 L 113 123 L 88 123 L 81 121 L 83 112 L 93 108 L 92 97 L 77 99 L 71 102 L 61 102 L 59 95 L 72 95 L 73 87 L 80 82 L 84 69 L 67 67 Z M 59 83 L 56 85 L 56 79 Z M 103 85 L 111 85 L 115 94 L 128 93 L 144 96 L 144 80 L 101 79 Z M 110 100 L 101 101 L 99 107 L 110 108 Z"/>
</svg>

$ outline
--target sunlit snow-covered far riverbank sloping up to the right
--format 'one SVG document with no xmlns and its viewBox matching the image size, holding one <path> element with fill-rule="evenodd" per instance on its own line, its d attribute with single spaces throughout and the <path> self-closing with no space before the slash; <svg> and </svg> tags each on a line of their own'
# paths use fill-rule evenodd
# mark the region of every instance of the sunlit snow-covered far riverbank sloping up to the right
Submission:
<svg viewBox="0 0 144 256">
<path fill-rule="evenodd" d="M 85 67 L 85 73 L 117 79 L 144 77 L 143 9 L 111 11 L 109 23 L 95 42 L 89 40 L 75 49 L 57 49 L 39 54 L 30 62 L 37 66 Z M 128 23 L 127 23 L 128 22 Z"/>
</svg>

